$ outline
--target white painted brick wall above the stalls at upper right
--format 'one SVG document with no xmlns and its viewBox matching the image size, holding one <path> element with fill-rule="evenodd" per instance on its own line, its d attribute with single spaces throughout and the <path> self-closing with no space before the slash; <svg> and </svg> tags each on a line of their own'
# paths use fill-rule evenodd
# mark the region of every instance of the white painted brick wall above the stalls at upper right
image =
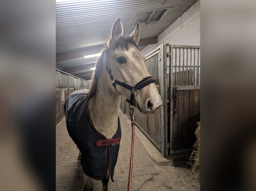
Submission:
<svg viewBox="0 0 256 191">
<path fill-rule="evenodd" d="M 148 45 L 141 52 L 146 55 L 162 43 L 200 46 L 200 0 L 158 35 L 157 44 Z"/>
</svg>

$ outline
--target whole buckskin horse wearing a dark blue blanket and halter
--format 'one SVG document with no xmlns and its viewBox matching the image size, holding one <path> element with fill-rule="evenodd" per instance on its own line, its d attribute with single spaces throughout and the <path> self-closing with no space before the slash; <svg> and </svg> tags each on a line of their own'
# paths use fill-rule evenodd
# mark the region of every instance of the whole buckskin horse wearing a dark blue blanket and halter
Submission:
<svg viewBox="0 0 256 191">
<path fill-rule="evenodd" d="M 80 150 L 85 191 L 93 190 L 93 179 L 102 180 L 103 191 L 108 190 L 110 177 L 114 181 L 121 139 L 121 98 L 146 114 L 162 105 L 139 50 L 139 36 L 138 22 L 130 35 L 124 35 L 121 17 L 117 18 L 96 62 L 90 90 L 74 91 L 65 101 L 67 129 Z M 100 154 L 103 156 L 98 157 Z"/>
</svg>

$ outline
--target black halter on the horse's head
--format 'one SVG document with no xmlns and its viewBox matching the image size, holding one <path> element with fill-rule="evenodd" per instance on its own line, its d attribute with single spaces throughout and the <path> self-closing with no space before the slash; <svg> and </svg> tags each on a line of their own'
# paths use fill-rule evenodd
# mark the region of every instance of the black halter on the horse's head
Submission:
<svg viewBox="0 0 256 191">
<path fill-rule="evenodd" d="M 131 105 L 135 105 L 135 102 L 134 102 L 134 97 L 138 95 L 138 90 L 144 88 L 145 86 L 151 84 L 151 83 L 155 83 L 155 80 L 152 76 L 149 76 L 149 77 L 146 77 L 144 78 L 143 80 L 141 80 L 138 84 L 136 84 L 135 86 L 130 86 L 128 84 L 125 84 L 124 82 L 120 82 L 118 80 L 116 80 L 114 78 L 114 76 L 112 75 L 112 71 L 110 69 L 110 66 L 106 60 L 106 69 L 107 69 L 107 72 L 109 73 L 109 76 L 110 76 L 110 79 L 112 81 L 112 85 L 114 86 L 114 88 L 116 89 L 116 85 L 120 85 L 128 90 L 131 91 L 131 97 L 130 97 L 130 101 L 129 100 L 126 100 L 127 102 L 129 102 Z M 114 80 L 114 82 L 113 82 Z M 117 89 L 116 89 L 117 90 Z"/>
</svg>

